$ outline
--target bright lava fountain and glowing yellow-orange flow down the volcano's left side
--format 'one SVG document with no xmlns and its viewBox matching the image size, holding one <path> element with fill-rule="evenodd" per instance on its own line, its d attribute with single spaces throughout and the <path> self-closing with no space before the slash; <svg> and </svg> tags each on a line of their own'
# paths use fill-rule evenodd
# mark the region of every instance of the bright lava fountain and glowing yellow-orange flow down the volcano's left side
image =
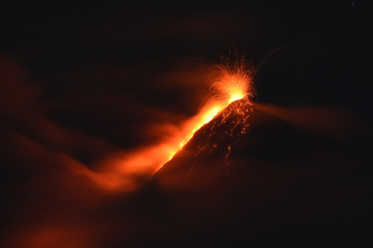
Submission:
<svg viewBox="0 0 373 248">
<path fill-rule="evenodd" d="M 249 103 L 255 96 L 253 76 L 257 67 L 246 61 L 244 56 L 240 57 L 237 51 L 233 59 L 231 59 L 231 54 L 227 58 L 221 57 L 220 59 L 221 63 L 211 68 L 208 78 L 212 82 L 209 88 L 211 97 L 204 108 L 202 118 L 195 123 L 195 127 L 171 154 L 170 159 L 188 143 L 197 130 L 230 103 L 239 99 L 244 99 Z"/>
</svg>

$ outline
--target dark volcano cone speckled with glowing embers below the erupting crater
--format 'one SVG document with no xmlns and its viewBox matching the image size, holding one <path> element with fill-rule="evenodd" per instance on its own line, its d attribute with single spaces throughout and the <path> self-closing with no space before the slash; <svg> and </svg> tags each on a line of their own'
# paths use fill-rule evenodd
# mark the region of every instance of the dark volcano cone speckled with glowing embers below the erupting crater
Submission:
<svg viewBox="0 0 373 248">
<path fill-rule="evenodd" d="M 312 146 L 304 137 L 301 130 L 239 99 L 201 127 L 153 180 L 171 175 L 178 181 L 187 180 L 202 171 L 229 174 L 237 158 L 276 160 L 309 153 Z"/>
</svg>

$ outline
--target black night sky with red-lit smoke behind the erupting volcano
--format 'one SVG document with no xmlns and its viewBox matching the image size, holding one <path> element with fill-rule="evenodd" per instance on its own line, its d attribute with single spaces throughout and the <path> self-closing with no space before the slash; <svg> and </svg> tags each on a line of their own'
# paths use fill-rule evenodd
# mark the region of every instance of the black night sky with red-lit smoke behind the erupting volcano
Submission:
<svg viewBox="0 0 373 248">
<path fill-rule="evenodd" d="M 105 164 L 178 132 L 204 106 L 210 66 L 230 50 L 258 66 L 281 48 L 254 78 L 255 102 L 298 108 L 294 115 L 311 108 L 318 119 L 310 129 L 324 119 L 328 130 L 346 126 L 333 137 L 365 147 L 352 152 L 349 166 L 358 156 L 365 162 L 373 123 L 371 13 L 365 1 L 301 2 L 0 3 L 0 244 L 124 247 L 118 231 L 99 234 L 118 228 L 115 213 L 131 201 L 124 194 L 132 188 L 108 193 L 91 172 L 108 173 Z M 128 171 L 124 178 L 136 189 L 154 173 Z M 370 171 L 362 171 L 361 180 L 346 182 L 360 182 L 353 191 L 359 202 L 371 187 L 362 182 Z M 137 223 L 146 222 L 143 215 Z"/>
</svg>

